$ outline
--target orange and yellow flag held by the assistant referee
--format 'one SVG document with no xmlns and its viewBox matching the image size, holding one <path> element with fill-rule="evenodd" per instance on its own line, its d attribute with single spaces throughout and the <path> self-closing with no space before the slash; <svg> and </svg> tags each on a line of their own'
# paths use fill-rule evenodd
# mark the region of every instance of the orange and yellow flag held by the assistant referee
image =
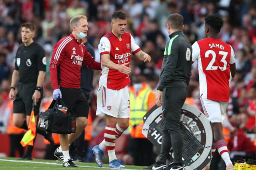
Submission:
<svg viewBox="0 0 256 170">
<path fill-rule="evenodd" d="M 36 120 L 34 115 L 34 102 L 28 123 L 28 131 L 25 133 L 20 143 L 23 147 L 26 145 L 34 145 L 34 138 L 36 137 Z"/>
</svg>

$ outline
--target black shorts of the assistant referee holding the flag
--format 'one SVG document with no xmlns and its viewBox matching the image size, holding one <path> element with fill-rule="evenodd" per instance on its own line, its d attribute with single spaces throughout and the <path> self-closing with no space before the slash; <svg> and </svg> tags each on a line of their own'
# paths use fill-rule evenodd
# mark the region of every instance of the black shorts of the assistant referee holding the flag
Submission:
<svg viewBox="0 0 256 170">
<path fill-rule="evenodd" d="M 32 96 L 36 90 L 36 82 L 21 83 L 18 86 L 18 93 L 13 101 L 13 113 L 26 113 L 30 116 L 32 111 Z M 43 90 L 41 90 L 41 97 L 34 107 L 34 114 L 38 115 L 41 100 L 43 98 Z"/>
</svg>

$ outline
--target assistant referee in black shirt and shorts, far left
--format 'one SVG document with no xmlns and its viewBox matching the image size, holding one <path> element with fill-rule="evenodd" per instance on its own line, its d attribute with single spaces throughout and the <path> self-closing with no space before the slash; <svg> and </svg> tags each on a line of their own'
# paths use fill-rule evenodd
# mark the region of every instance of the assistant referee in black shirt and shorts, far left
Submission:
<svg viewBox="0 0 256 170">
<path fill-rule="evenodd" d="M 12 73 L 12 82 L 9 98 L 14 100 L 13 122 L 14 125 L 23 129 L 28 129 L 32 103 L 34 101 L 35 119 L 39 113 L 40 102 L 43 97 L 42 85 L 46 71 L 46 57 L 44 49 L 33 41 L 35 27 L 32 23 L 24 23 L 21 26 L 21 37 L 23 44 L 17 50 L 15 57 L 15 68 Z M 15 88 L 17 83 L 18 93 Z M 26 121 L 24 117 L 26 115 Z M 51 143 L 53 142 L 50 133 L 38 131 L 44 135 Z M 32 159 L 33 146 L 28 145 L 27 152 L 23 159 Z"/>
</svg>

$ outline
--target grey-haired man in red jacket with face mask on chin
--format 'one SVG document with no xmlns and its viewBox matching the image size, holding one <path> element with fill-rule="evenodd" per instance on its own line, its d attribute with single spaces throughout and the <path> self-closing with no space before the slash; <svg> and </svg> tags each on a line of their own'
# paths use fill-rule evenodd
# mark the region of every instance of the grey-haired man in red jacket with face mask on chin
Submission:
<svg viewBox="0 0 256 170">
<path fill-rule="evenodd" d="M 88 68 L 95 70 L 101 70 L 101 67 L 87 52 L 82 41 L 88 31 L 86 16 L 74 16 L 70 20 L 70 29 L 72 33 L 54 46 L 50 76 L 54 100 L 62 98 L 71 114 L 76 116 L 76 133 L 60 134 L 60 147 L 55 150 L 54 155 L 63 160 L 63 166 L 77 167 L 70 159 L 68 146 L 87 125 L 89 106 L 80 88 L 81 66 L 84 63 Z"/>
</svg>

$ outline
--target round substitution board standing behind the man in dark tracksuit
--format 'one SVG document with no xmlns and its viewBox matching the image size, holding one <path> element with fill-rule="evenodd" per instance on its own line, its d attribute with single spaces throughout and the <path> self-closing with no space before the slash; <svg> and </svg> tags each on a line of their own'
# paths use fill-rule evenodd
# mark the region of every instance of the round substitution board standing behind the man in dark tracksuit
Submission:
<svg viewBox="0 0 256 170">
<path fill-rule="evenodd" d="M 144 115 L 143 135 L 161 149 L 162 107 L 154 106 Z M 184 104 L 180 116 L 183 137 L 182 163 L 185 170 L 202 170 L 211 160 L 212 128 L 204 114 L 193 106 Z M 173 162 L 172 148 L 168 159 Z"/>
</svg>

